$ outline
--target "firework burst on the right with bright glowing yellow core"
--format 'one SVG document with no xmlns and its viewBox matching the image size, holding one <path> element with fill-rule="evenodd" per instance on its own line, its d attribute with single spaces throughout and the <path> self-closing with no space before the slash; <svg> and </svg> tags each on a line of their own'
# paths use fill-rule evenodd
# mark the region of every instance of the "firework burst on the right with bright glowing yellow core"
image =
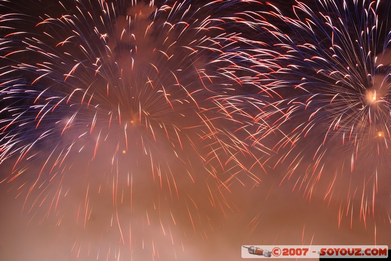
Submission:
<svg viewBox="0 0 391 261">
<path fill-rule="evenodd" d="M 275 63 L 268 86 L 280 97 L 263 108 L 273 127 L 255 136 L 276 140 L 270 162 L 287 166 L 282 181 L 294 179 L 309 199 L 320 190 L 328 204 L 342 202 L 339 223 L 359 216 L 366 224 L 382 205 L 376 195 L 389 193 L 381 180 L 390 168 L 390 5 L 315 5 L 297 2 L 286 16 L 269 4 L 259 13 Z"/>
</svg>

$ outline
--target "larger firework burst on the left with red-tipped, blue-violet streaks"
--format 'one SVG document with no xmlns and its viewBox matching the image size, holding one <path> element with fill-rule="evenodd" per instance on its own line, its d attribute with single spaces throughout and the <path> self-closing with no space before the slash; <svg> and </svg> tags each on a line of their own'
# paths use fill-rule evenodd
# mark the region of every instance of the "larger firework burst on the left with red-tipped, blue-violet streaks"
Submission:
<svg viewBox="0 0 391 261">
<path fill-rule="evenodd" d="M 151 230 L 175 252 L 178 223 L 207 237 L 210 213 L 232 211 L 226 192 L 257 185 L 268 155 L 245 139 L 254 124 L 243 105 L 263 44 L 241 35 L 251 12 L 218 15 L 254 4 L 74 1 L 30 14 L 4 3 L 0 161 L 13 164 L 2 182 L 24 182 L 23 210 L 46 207 L 39 223 L 51 214 L 101 238 L 91 250 L 77 237 L 77 256 L 120 259 L 146 240 L 159 258 Z M 104 245 L 111 233 L 118 241 Z"/>
</svg>

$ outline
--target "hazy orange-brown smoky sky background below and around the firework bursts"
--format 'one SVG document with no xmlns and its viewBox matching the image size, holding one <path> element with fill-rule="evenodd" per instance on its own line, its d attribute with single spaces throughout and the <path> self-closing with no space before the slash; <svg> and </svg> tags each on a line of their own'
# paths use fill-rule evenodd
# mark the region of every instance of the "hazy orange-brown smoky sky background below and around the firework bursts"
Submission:
<svg viewBox="0 0 391 261">
<path fill-rule="evenodd" d="M 195 5 L 202 6 L 204 2 L 206 1 L 196 1 Z M 293 1 L 273 1 L 273 3 L 279 5 L 283 12 L 291 15 L 289 10 Z M 8 5 L 3 2 L 0 4 Z M 70 1 L 64 4 L 74 6 Z M 312 1 L 308 4 L 313 8 L 316 7 Z M 155 5 L 158 5 L 158 2 L 155 2 Z M 59 17 L 62 14 L 62 11 L 57 9 L 58 4 L 51 1 L 42 1 L 42 5 L 27 1 L 25 5 L 14 3 L 12 6 L 15 10 L 27 12 L 32 16 L 27 19 L 32 21 L 38 17 L 36 13 L 50 12 L 52 17 Z M 146 6 L 143 8 L 149 10 Z M 238 11 L 235 7 L 226 7 L 223 11 L 211 9 L 210 12 L 212 15 L 222 12 L 223 16 L 224 12 L 233 10 Z M 2 7 L 0 12 L 4 14 L 10 12 L 10 9 Z M 77 10 L 69 9 L 69 12 L 77 12 Z M 139 26 L 145 26 L 143 23 L 145 21 L 148 21 L 148 18 L 140 19 Z M 118 19 L 117 23 L 122 22 L 124 21 Z M 16 24 L 24 26 L 27 31 L 36 30 L 34 23 Z M 276 24 L 282 28 L 284 26 L 281 22 Z M 231 29 L 235 30 L 235 27 Z M 137 29 L 134 30 L 138 32 Z M 247 33 L 249 29 L 242 31 Z M 113 30 L 111 33 L 118 32 Z M 118 38 L 118 35 L 112 37 Z M 261 40 L 263 36 L 258 35 L 254 38 Z M 151 35 L 150 38 L 146 37 L 144 41 L 138 42 L 138 45 L 144 45 L 144 49 L 140 47 L 140 53 L 147 53 L 155 44 L 153 40 L 155 39 Z M 50 39 L 47 41 L 48 45 L 56 43 L 54 40 L 51 43 Z M 112 42 L 108 45 L 115 48 L 114 56 L 118 64 L 124 65 L 130 61 L 122 51 L 125 49 L 124 52 L 127 52 L 127 48 L 132 47 L 133 44 L 130 41 L 121 46 Z M 137 61 L 143 66 L 149 62 L 147 54 L 140 55 L 138 58 Z M 31 57 L 20 56 L 18 59 L 28 61 Z M 202 64 L 203 60 L 196 62 Z M 4 65 L 5 63 L 6 61 Z M 167 70 L 171 69 L 170 65 L 167 67 L 169 67 Z M 129 71 L 129 73 L 133 72 Z M 135 77 L 138 77 L 138 74 Z M 88 81 L 87 77 L 86 79 Z M 43 85 L 45 83 L 45 81 L 41 82 Z M 252 92 L 248 89 L 245 91 Z M 4 108 L 7 101 L 1 102 L 1 108 Z M 2 117 L 10 117 L 10 115 L 10 113 L 3 113 Z M 130 117 L 133 115 L 131 114 Z M 187 120 L 184 120 L 184 124 Z M 72 142 L 72 133 L 62 139 Z M 26 199 L 28 188 L 35 181 L 37 173 L 40 172 L 47 158 L 44 156 L 48 153 L 45 145 L 50 145 L 51 141 L 47 142 L 36 148 L 36 152 L 39 153 L 37 160 L 12 182 L 8 180 L 14 159 L 9 159 L 0 165 L 0 260 L 236 261 L 240 260 L 242 245 L 374 245 L 375 242 L 377 245 L 391 244 L 390 175 L 381 175 L 379 192 L 376 194 L 376 214 L 374 217 L 367 214 L 365 222 L 363 216 L 360 218 L 358 210 L 355 209 L 351 214 L 350 209 L 347 213 L 346 208 L 345 192 L 348 190 L 349 180 L 355 180 L 355 175 L 367 175 L 360 169 L 339 176 L 336 182 L 340 184 L 336 186 L 335 194 L 325 199 L 324 192 L 329 185 L 327 178 L 325 183 L 317 185 L 310 197 L 308 190 L 299 191 L 295 187 L 296 178 L 281 183 L 287 172 L 287 166 L 278 165 L 273 169 L 274 164 L 267 163 L 265 164 L 267 173 L 260 166 L 256 166 L 253 171 L 262 182 L 255 186 L 251 182 L 244 182 L 244 186 L 239 182 L 232 184 L 231 192 L 223 193 L 227 206 L 224 205 L 224 199 L 218 189 L 212 187 L 213 192 L 210 192 L 208 186 L 213 186 L 214 182 L 202 167 L 192 166 L 196 175 L 195 183 L 191 183 L 185 171 L 186 167 L 172 155 L 170 149 L 165 147 L 165 143 L 158 143 L 153 152 L 163 159 L 162 161 L 168 163 L 178 179 L 179 197 L 170 200 L 170 193 L 159 189 L 160 185 L 152 180 L 152 176 L 145 174 L 150 172 L 148 157 L 140 156 L 140 160 L 137 161 L 137 156 L 135 156 L 136 160 L 129 159 L 126 158 L 130 157 L 127 155 L 134 154 L 124 152 L 124 155 L 118 156 L 120 163 L 108 164 L 107 159 L 112 157 L 110 151 L 115 150 L 116 146 L 115 142 L 111 143 L 108 140 L 102 142 L 103 149 L 99 150 L 94 161 L 90 160 L 89 154 L 75 154 L 70 158 L 72 161 L 67 162 L 66 167 L 57 172 L 58 176 L 52 183 L 44 181 L 41 183 L 40 180 L 36 189 L 32 190 Z M 265 146 L 273 146 L 272 144 L 273 139 L 265 141 Z M 88 143 L 85 150 L 93 151 L 94 145 Z M 299 145 L 299 150 L 305 149 L 306 145 L 302 144 L 302 147 Z M 204 152 L 203 149 L 200 151 Z M 191 158 L 189 162 L 196 162 L 195 159 L 193 161 L 192 153 L 184 154 Z M 341 151 L 330 154 L 327 158 L 329 164 L 323 170 L 324 175 L 333 176 L 335 166 L 339 161 L 345 160 L 345 157 L 349 158 L 350 155 L 344 155 Z M 303 165 L 310 164 L 311 158 L 312 156 L 306 157 Z M 252 160 L 245 158 L 243 164 L 251 166 Z M 137 161 L 137 168 L 132 169 L 135 161 Z M 388 160 L 384 161 L 386 164 L 379 166 L 379 169 L 387 173 L 390 168 L 387 164 Z M 370 164 L 369 162 L 368 165 Z M 114 168 L 118 169 L 117 172 L 112 170 Z M 298 168 L 297 172 L 304 172 L 305 168 L 305 166 Z M 132 170 L 135 184 L 135 187 L 132 187 L 131 201 L 130 190 L 127 187 L 129 175 L 126 173 L 129 173 L 129 170 Z M 118 177 L 116 173 L 126 174 Z M 44 176 L 51 177 L 47 173 Z M 246 178 L 243 180 L 246 181 Z M 361 182 L 362 179 L 357 180 Z M 110 194 L 113 193 L 111 186 L 114 186 L 114 182 L 120 184 L 120 187 L 125 188 L 122 191 L 128 193 L 123 204 L 116 206 L 113 206 L 113 196 Z M 171 181 L 167 183 L 173 185 Z M 354 182 L 353 184 L 355 185 Z M 210 193 L 213 193 L 216 199 L 215 206 L 210 202 Z M 115 197 L 121 198 L 119 194 Z M 353 197 L 349 204 L 359 208 L 361 200 L 360 194 Z M 86 205 L 88 205 L 87 211 L 84 210 Z M 82 213 L 79 217 L 78 212 Z M 192 221 L 189 214 L 192 216 Z M 87 216 L 88 220 L 85 222 Z M 124 235 L 124 239 L 121 234 Z"/>
</svg>

